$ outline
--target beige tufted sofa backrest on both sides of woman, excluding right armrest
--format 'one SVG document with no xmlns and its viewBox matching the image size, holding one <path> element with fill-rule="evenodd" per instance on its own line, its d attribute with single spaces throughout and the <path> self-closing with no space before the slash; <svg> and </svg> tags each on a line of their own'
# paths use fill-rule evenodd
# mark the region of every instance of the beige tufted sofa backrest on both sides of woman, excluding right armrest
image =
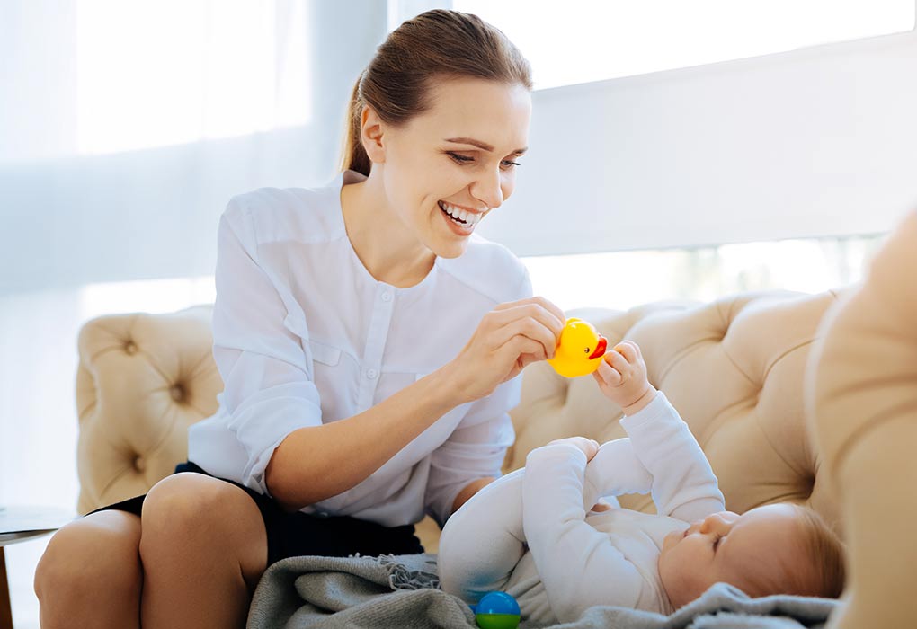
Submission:
<svg viewBox="0 0 917 629">
<path fill-rule="evenodd" d="M 580 310 L 610 344 L 643 349 L 650 381 L 665 391 L 710 458 L 727 506 L 811 504 L 836 524 L 837 506 L 806 433 L 804 366 L 833 293 L 741 294 L 713 303 L 651 303 L 626 312 Z M 79 509 L 85 513 L 147 491 L 186 457 L 189 425 L 213 414 L 222 383 L 211 355 L 210 307 L 124 314 L 80 334 Z M 561 436 L 623 436 L 621 410 L 591 378 L 567 380 L 547 363 L 525 370 L 517 433 L 505 469 Z M 624 506 L 647 511 L 646 496 Z M 436 548 L 427 523 L 422 541 Z"/>
</svg>

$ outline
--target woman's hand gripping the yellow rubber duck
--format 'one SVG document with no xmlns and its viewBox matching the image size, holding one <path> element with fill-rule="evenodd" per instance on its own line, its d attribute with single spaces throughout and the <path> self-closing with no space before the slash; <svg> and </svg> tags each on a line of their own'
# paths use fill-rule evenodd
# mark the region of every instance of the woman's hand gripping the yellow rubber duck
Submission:
<svg viewBox="0 0 917 629">
<path fill-rule="evenodd" d="M 485 314 L 444 368 L 461 402 L 480 400 L 529 363 L 553 357 L 564 321 L 563 311 L 544 297 L 501 303 Z"/>
</svg>

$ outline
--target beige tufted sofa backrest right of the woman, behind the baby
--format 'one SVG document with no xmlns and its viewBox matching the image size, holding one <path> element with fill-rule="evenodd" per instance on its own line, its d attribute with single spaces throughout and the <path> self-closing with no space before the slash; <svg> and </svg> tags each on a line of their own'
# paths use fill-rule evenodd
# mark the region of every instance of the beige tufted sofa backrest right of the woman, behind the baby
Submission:
<svg viewBox="0 0 917 629">
<path fill-rule="evenodd" d="M 624 338 L 640 346 L 649 380 L 666 392 L 710 459 L 727 508 L 743 513 L 768 502 L 796 502 L 839 530 L 803 403 L 806 360 L 834 301 L 832 292 L 763 292 L 577 315 L 591 321 L 609 347 Z M 561 436 L 600 443 L 624 436 L 621 416 L 591 378 L 568 380 L 547 363 L 533 364 L 513 412 L 517 435 L 506 468 L 522 467 L 533 447 Z M 653 512 L 649 496 L 620 502 Z"/>
</svg>

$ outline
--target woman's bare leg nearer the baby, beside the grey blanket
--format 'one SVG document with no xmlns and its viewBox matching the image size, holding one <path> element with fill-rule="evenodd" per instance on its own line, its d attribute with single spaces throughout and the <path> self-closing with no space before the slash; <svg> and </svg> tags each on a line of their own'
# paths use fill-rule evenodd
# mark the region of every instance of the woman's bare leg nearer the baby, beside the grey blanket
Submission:
<svg viewBox="0 0 917 629">
<path fill-rule="evenodd" d="M 144 629 L 244 627 L 268 540 L 248 493 L 203 474 L 160 480 L 143 503 Z"/>
</svg>

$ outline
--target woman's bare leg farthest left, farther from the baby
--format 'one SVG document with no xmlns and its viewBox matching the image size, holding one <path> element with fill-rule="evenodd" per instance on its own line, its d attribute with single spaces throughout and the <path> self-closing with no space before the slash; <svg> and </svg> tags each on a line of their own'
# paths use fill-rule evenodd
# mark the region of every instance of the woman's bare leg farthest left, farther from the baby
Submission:
<svg viewBox="0 0 917 629">
<path fill-rule="evenodd" d="M 35 571 L 43 629 L 139 627 L 139 542 L 133 513 L 93 513 L 62 527 Z"/>
</svg>

